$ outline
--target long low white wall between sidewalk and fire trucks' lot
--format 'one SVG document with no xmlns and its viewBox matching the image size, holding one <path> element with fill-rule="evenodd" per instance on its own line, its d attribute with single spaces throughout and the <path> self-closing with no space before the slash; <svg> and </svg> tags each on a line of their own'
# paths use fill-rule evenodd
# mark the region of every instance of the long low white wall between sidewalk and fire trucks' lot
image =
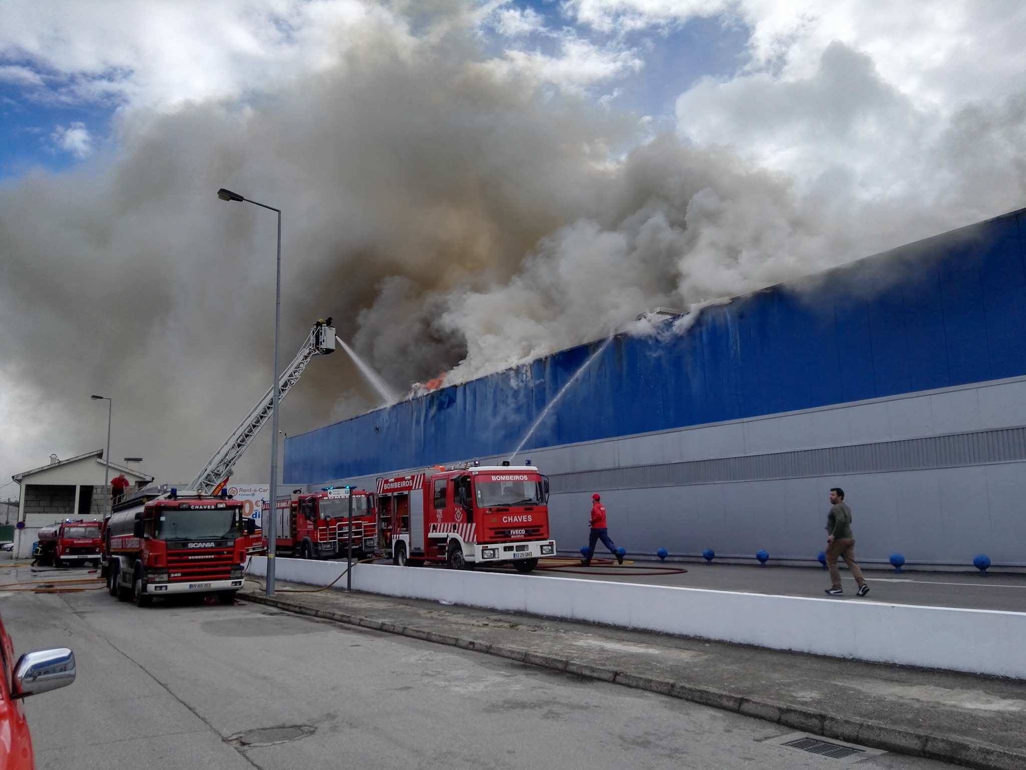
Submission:
<svg viewBox="0 0 1026 770">
<path fill-rule="evenodd" d="M 249 571 L 264 575 L 267 560 Z M 278 559 L 276 575 L 326 585 L 346 565 Z M 346 587 L 342 578 L 337 587 Z M 1026 613 L 355 565 L 353 588 L 627 628 L 1026 679 Z M 287 594 L 285 594 L 287 596 Z"/>
</svg>

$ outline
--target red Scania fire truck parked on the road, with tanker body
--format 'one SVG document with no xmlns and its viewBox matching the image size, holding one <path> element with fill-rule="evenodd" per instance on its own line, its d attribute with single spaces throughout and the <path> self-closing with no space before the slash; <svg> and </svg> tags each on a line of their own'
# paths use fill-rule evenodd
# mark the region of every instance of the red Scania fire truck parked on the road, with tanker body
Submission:
<svg viewBox="0 0 1026 770">
<path fill-rule="evenodd" d="M 215 593 L 232 604 L 255 529 L 242 508 L 227 496 L 172 489 L 114 513 L 107 523 L 107 590 L 140 607 L 172 593 Z"/>
</svg>

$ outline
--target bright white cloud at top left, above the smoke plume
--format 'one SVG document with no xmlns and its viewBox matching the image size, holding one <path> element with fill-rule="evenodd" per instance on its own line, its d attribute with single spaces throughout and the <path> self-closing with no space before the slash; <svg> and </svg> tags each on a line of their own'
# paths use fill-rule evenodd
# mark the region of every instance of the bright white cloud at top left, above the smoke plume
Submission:
<svg viewBox="0 0 1026 770">
<path fill-rule="evenodd" d="M 360 0 L 7 0 L 0 61 L 44 70 L 55 100 L 166 110 L 326 70 L 354 42 L 347 32 L 364 21 L 405 29 Z"/>
</svg>

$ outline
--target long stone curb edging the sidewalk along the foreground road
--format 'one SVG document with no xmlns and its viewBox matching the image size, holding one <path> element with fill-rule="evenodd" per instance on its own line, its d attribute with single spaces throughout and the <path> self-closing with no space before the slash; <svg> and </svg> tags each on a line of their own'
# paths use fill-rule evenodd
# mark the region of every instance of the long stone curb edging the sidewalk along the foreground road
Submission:
<svg viewBox="0 0 1026 770">
<path fill-rule="evenodd" d="M 550 668 L 564 673 L 573 673 L 578 677 L 608 682 L 636 690 L 647 690 L 660 695 L 669 695 L 670 697 L 688 700 L 693 703 L 734 711 L 746 717 L 755 717 L 802 732 L 822 735 L 826 738 L 835 738 L 849 743 L 859 743 L 871 748 L 882 748 L 896 754 L 951 762 L 964 767 L 979 768 L 979 770 L 1022 770 L 1022 768 L 1026 767 L 1026 754 L 1011 752 L 982 741 L 942 737 L 925 732 L 913 732 L 867 720 L 834 714 L 823 714 L 800 706 L 776 703 L 772 700 L 734 695 L 709 687 L 697 687 L 682 682 L 668 682 L 636 673 L 618 671 L 614 668 L 582 663 L 568 658 L 543 655 L 513 647 L 501 647 L 486 642 L 427 631 L 423 628 L 374 620 L 359 615 L 317 610 L 280 599 L 269 599 L 249 593 L 240 593 L 238 599 L 242 602 L 276 607 L 279 610 L 285 610 L 298 615 L 333 620 L 339 623 L 346 623 L 347 625 L 357 625 L 371 630 L 408 637 L 422 642 L 459 647 L 463 650 L 495 655 L 519 663 Z"/>
</svg>

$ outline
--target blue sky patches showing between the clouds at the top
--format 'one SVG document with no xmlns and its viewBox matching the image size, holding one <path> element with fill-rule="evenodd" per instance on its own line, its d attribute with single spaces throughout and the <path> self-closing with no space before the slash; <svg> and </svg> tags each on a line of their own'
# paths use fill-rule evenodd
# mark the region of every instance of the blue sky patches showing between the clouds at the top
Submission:
<svg viewBox="0 0 1026 770">
<path fill-rule="evenodd" d="M 750 30 L 736 17 L 690 17 L 657 29 L 627 33 L 602 31 L 578 24 L 571 8 L 551 0 L 509 2 L 500 12 L 515 10 L 536 12 L 543 28 L 530 34 L 509 38 L 496 28 L 496 16 L 481 25 L 482 53 L 501 59 L 505 50 L 516 48 L 558 59 L 567 40 L 587 42 L 595 51 L 621 51 L 640 62 L 636 68 L 623 67 L 608 77 L 579 88 L 577 95 L 600 100 L 620 110 L 650 116 L 654 129 L 672 129 L 676 98 L 705 76 L 729 78 L 745 62 Z M 294 28 L 280 20 L 271 20 L 283 35 L 292 37 Z M 127 35 L 133 31 L 122 28 Z M 36 33 L 38 34 L 38 33 Z M 53 33 L 67 35 L 69 32 Z M 73 34 L 73 32 L 72 32 Z M 85 31 L 83 31 L 85 34 Z M 127 41 L 130 47 L 133 41 Z M 8 40 L 0 41 L 0 179 L 16 178 L 33 167 L 61 171 L 86 161 L 109 141 L 112 120 L 119 110 L 140 107 L 132 86 L 136 65 L 123 57 L 106 60 L 102 50 L 90 48 L 93 61 L 75 68 L 58 59 L 48 59 L 43 51 Z M 134 43 L 145 52 L 147 37 Z M 625 53 L 626 55 L 626 53 Z M 283 68 L 287 69 L 287 68 Z M 111 72 L 117 73 L 116 76 Z M 108 88 L 108 81 L 118 81 L 118 88 Z M 255 81 L 254 81 L 255 82 Z M 101 87 L 94 87 L 96 83 Z M 249 83 L 252 86 L 254 83 Z M 238 91 L 244 81 L 235 81 Z M 123 87 L 122 87 L 123 86 Z M 232 86 L 228 88 L 231 95 Z M 144 88 L 145 90 L 145 88 Z M 203 95 L 203 88 L 199 88 Z M 185 92 L 189 99 L 193 94 Z M 212 89 L 211 95 L 226 95 Z M 163 107 L 152 94 L 143 100 L 145 108 Z M 69 137 L 68 130 L 73 133 Z M 78 140 L 77 142 L 75 140 Z M 84 144 L 83 144 L 84 142 Z"/>
</svg>

